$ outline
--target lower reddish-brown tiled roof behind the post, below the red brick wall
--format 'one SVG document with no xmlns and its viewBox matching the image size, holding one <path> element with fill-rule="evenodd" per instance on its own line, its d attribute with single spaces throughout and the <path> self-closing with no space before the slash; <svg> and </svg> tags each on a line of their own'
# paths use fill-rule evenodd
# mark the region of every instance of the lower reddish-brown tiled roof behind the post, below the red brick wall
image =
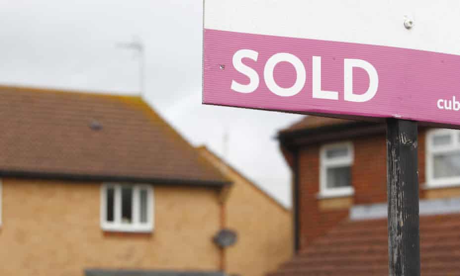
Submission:
<svg viewBox="0 0 460 276">
<path fill-rule="evenodd" d="M 346 221 L 270 276 L 387 276 L 387 220 Z M 421 275 L 460 275 L 460 214 L 420 217 Z"/>
</svg>

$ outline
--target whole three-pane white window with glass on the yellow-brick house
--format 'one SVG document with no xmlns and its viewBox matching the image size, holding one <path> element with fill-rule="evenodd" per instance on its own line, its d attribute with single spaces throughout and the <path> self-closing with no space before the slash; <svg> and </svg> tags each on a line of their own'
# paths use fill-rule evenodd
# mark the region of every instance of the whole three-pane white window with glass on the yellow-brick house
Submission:
<svg viewBox="0 0 460 276">
<path fill-rule="evenodd" d="M 101 227 L 106 231 L 153 230 L 153 187 L 146 184 L 104 184 Z"/>
</svg>

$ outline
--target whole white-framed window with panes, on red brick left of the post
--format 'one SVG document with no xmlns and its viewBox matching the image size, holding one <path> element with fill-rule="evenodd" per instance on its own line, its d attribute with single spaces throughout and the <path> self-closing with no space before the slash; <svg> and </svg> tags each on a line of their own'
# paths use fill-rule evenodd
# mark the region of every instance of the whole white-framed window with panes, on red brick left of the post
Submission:
<svg viewBox="0 0 460 276">
<path fill-rule="evenodd" d="M 353 194 L 351 142 L 326 144 L 320 150 L 320 196 L 334 197 Z"/>
</svg>

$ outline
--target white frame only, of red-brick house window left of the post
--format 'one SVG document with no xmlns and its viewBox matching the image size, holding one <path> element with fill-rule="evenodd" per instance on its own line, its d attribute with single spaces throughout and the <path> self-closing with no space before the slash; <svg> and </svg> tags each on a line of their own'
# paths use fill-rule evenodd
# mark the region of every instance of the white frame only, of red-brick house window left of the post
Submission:
<svg viewBox="0 0 460 276">
<path fill-rule="evenodd" d="M 337 147 L 347 147 L 348 156 L 333 158 L 326 157 L 326 151 L 329 149 Z M 339 143 L 330 143 L 325 144 L 320 149 L 320 197 L 340 197 L 340 196 L 349 196 L 353 195 L 355 189 L 353 184 L 350 183 L 348 187 L 337 187 L 337 188 L 328 188 L 327 187 L 327 168 L 342 167 L 342 166 L 353 166 L 354 161 L 354 151 L 352 142 L 339 142 Z"/>
</svg>

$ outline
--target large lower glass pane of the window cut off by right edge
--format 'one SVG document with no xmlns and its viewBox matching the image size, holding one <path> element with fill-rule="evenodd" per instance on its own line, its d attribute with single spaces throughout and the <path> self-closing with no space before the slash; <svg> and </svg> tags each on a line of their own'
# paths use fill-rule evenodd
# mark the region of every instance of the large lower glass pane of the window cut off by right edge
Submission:
<svg viewBox="0 0 460 276">
<path fill-rule="evenodd" d="M 433 156 L 434 178 L 460 176 L 460 152 L 435 154 Z"/>
</svg>

